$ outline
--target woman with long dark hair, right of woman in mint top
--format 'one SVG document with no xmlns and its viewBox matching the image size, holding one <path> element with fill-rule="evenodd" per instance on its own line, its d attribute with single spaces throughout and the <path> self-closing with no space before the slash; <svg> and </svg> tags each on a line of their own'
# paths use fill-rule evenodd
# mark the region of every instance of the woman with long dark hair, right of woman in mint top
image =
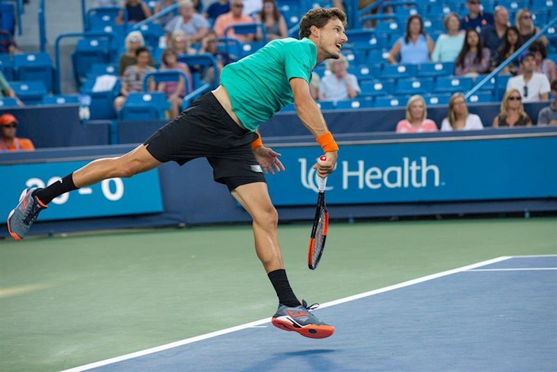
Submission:
<svg viewBox="0 0 557 372">
<path fill-rule="evenodd" d="M 455 75 L 478 77 L 489 69 L 489 49 L 483 47 L 476 29 L 466 30 L 466 40 L 455 62 Z"/>
</svg>

